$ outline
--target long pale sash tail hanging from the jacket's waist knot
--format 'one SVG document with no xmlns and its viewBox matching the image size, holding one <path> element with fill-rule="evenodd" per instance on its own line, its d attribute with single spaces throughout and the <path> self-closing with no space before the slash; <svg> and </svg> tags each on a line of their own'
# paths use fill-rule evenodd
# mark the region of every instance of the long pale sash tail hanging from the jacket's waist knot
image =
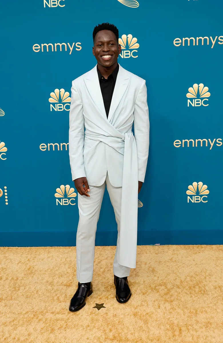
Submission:
<svg viewBox="0 0 223 343">
<path fill-rule="evenodd" d="M 136 268 L 138 221 L 138 157 L 133 133 L 125 133 L 120 239 L 117 251 L 119 264 Z"/>
</svg>

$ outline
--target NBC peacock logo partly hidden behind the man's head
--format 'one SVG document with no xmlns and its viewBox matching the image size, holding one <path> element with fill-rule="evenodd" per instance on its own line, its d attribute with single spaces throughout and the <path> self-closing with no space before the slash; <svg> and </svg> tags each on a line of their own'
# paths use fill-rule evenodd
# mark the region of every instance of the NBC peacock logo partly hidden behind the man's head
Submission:
<svg viewBox="0 0 223 343">
<path fill-rule="evenodd" d="M 129 34 L 128 36 L 122 35 L 122 38 L 119 38 L 119 44 L 121 45 L 122 51 L 119 54 L 121 58 L 137 58 L 137 52 L 139 48 L 139 43 L 137 43 L 137 38 Z"/>
</svg>

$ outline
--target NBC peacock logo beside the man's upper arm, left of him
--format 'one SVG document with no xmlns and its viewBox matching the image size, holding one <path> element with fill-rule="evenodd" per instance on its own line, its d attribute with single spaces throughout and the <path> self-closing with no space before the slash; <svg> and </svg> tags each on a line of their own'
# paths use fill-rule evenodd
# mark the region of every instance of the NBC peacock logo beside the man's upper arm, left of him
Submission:
<svg viewBox="0 0 223 343">
<path fill-rule="evenodd" d="M 50 93 L 49 102 L 51 111 L 70 111 L 70 93 L 65 92 L 63 88 L 60 90 L 56 88 L 54 92 Z"/>
</svg>

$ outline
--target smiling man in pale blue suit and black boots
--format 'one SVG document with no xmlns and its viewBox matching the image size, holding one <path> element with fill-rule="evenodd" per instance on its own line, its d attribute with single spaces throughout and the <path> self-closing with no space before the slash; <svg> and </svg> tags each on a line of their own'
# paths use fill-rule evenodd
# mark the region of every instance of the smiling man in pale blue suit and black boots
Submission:
<svg viewBox="0 0 223 343">
<path fill-rule="evenodd" d="M 92 293 L 95 234 L 105 186 L 118 226 L 113 271 L 116 299 L 131 296 L 127 276 L 136 267 L 138 192 L 149 152 L 145 80 L 117 63 L 119 31 L 103 23 L 93 31 L 97 66 L 72 82 L 69 155 L 78 191 L 78 288 L 70 311 L 85 306 Z M 132 126 L 134 122 L 134 134 Z"/>
</svg>

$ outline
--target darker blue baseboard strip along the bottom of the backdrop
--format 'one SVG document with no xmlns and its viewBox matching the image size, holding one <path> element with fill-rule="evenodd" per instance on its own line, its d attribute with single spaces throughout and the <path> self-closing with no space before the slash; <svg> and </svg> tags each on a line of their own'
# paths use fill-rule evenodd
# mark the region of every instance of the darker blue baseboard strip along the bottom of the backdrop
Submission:
<svg viewBox="0 0 223 343">
<path fill-rule="evenodd" d="M 117 232 L 97 232 L 96 245 L 116 245 Z M 223 230 L 152 230 L 138 232 L 138 245 L 223 244 Z M 0 232 L 1 247 L 67 247 L 76 245 L 76 232 Z"/>
</svg>

